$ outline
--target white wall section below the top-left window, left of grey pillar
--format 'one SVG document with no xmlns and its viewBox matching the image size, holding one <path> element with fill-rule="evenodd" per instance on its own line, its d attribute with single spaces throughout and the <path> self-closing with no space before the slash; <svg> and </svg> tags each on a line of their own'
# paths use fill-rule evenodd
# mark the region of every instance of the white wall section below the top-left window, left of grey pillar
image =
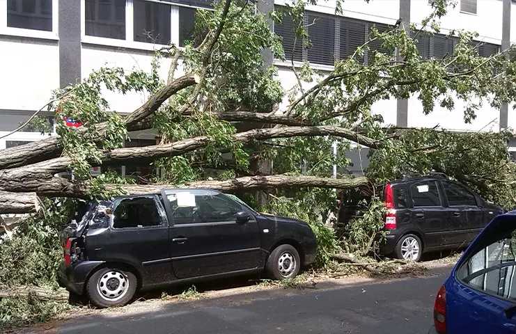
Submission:
<svg viewBox="0 0 516 334">
<path fill-rule="evenodd" d="M 57 40 L 0 38 L 0 109 L 37 111 L 59 87 Z"/>
</svg>

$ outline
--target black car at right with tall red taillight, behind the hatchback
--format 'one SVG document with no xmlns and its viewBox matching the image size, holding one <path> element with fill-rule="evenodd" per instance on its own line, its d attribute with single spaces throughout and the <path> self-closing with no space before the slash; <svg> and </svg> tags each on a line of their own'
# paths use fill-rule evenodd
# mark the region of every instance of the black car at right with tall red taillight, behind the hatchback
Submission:
<svg viewBox="0 0 516 334">
<path fill-rule="evenodd" d="M 368 209 L 371 196 L 384 200 L 386 239 L 380 253 L 419 261 L 424 252 L 466 248 L 504 210 L 443 175 L 403 177 L 375 189 L 344 193 L 338 223 L 345 229 Z M 365 201 L 364 201 L 365 200 Z"/>
</svg>

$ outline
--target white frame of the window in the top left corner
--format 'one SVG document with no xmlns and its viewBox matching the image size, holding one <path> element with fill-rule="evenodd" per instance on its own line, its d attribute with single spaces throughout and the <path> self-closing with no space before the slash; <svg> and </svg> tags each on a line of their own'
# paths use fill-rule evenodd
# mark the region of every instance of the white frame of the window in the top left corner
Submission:
<svg viewBox="0 0 516 334">
<path fill-rule="evenodd" d="M 40 39 L 45 39 L 45 40 L 58 40 L 59 39 L 58 38 L 58 29 L 59 29 L 59 25 L 58 25 L 59 3 L 58 3 L 58 0 L 52 0 L 52 31 L 15 28 L 12 26 L 7 26 L 7 1 L 8 0 L 0 0 L 0 35 L 40 38 Z M 17 2 L 19 4 L 22 3 L 21 0 L 17 0 Z"/>
</svg>

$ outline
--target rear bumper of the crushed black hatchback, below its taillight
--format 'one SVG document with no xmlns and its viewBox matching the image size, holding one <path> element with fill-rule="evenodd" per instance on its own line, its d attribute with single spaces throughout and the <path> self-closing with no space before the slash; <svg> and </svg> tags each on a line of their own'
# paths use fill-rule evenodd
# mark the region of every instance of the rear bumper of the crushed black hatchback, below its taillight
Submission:
<svg viewBox="0 0 516 334">
<path fill-rule="evenodd" d="M 67 266 L 63 261 L 59 270 L 58 283 L 68 291 L 82 295 L 90 274 L 103 263 L 103 261 L 77 261 Z"/>
</svg>

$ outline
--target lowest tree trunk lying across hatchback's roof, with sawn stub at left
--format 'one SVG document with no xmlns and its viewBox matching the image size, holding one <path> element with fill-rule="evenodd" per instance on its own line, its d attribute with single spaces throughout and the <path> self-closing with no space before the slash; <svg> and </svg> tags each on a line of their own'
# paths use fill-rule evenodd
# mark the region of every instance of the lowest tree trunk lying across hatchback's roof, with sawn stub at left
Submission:
<svg viewBox="0 0 516 334">
<path fill-rule="evenodd" d="M 25 182 L 9 182 L 2 185 L 4 190 L 8 191 L 37 191 L 38 195 L 48 197 L 77 197 L 88 198 L 88 184 L 85 182 L 70 182 L 62 177 L 52 177 L 47 180 L 35 179 L 24 180 Z M 345 179 L 333 179 L 329 177 L 315 177 L 315 176 L 290 176 L 290 175 L 267 175 L 267 176 L 246 176 L 237 177 L 232 180 L 208 180 L 198 181 L 186 184 L 186 188 L 205 188 L 219 191 L 233 192 L 242 189 L 246 190 L 265 190 L 276 188 L 306 188 L 318 187 L 327 189 L 347 189 L 355 188 L 368 184 L 366 177 L 353 177 Z M 123 184 L 123 185 L 107 185 L 107 189 L 111 191 L 123 191 L 128 194 L 144 194 L 144 193 L 158 193 L 161 189 L 174 189 L 178 186 L 173 184 Z M 10 200 L 6 200 L 6 198 Z M 17 202 L 16 199 L 25 198 L 26 200 Z M 25 197 L 26 196 L 26 197 Z M 0 214 L 6 213 L 2 210 L 15 210 L 24 207 L 24 211 L 19 210 L 16 213 L 34 212 L 36 210 L 37 202 L 30 202 L 30 199 L 36 198 L 35 193 L 17 193 L 12 196 L 12 193 L 0 191 L 0 203 L 10 203 L 10 206 L 3 205 L 0 207 Z"/>
</svg>

